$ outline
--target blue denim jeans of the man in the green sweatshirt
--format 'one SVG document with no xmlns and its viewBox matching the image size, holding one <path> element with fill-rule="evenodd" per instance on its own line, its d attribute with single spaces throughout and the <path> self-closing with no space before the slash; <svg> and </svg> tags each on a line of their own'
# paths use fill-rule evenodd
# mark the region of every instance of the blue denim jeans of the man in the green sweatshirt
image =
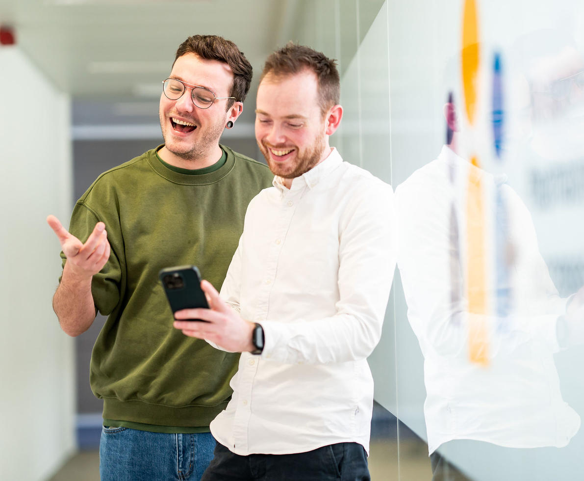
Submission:
<svg viewBox="0 0 584 481">
<path fill-rule="evenodd" d="M 199 481 L 213 459 L 210 432 L 167 434 L 130 428 L 102 428 L 102 481 Z"/>
</svg>

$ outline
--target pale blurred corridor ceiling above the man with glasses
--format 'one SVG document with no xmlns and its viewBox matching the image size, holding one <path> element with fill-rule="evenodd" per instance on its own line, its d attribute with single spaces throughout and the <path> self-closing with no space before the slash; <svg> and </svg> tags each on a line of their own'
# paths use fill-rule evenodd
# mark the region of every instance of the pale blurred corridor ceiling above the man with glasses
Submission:
<svg viewBox="0 0 584 481">
<path fill-rule="evenodd" d="M 194 33 L 235 39 L 252 65 L 260 65 L 282 40 L 291 3 L 0 0 L 0 23 L 12 25 L 18 46 L 73 96 L 126 96 L 154 84 L 159 90 L 176 47 Z"/>
</svg>

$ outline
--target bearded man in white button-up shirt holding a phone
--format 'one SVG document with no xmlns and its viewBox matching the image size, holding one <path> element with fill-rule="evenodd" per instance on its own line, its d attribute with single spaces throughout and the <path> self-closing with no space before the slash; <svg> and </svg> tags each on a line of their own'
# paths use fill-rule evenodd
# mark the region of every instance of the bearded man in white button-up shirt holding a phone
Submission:
<svg viewBox="0 0 584 481">
<path fill-rule="evenodd" d="M 266 61 L 256 140 L 275 174 L 249 205 L 221 297 L 175 327 L 242 352 L 202 479 L 368 480 L 373 379 L 395 266 L 391 186 L 329 146 L 335 62 L 288 44 Z M 207 323 L 186 321 L 201 319 Z"/>
</svg>

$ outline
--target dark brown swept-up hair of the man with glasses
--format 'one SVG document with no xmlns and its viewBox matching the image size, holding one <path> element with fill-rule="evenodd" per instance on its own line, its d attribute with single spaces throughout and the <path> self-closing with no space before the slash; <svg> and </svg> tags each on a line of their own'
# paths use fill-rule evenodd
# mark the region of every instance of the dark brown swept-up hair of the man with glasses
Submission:
<svg viewBox="0 0 584 481">
<path fill-rule="evenodd" d="M 218 60 L 224 62 L 233 72 L 233 84 L 231 85 L 230 97 L 235 97 L 235 101 L 243 102 L 248 95 L 249 84 L 252 81 L 253 69 L 248 59 L 237 45 L 231 40 L 225 40 L 218 35 L 193 35 L 183 41 L 176 50 L 176 59 L 187 53 L 197 54 L 204 60 Z M 174 66 L 174 62 L 172 65 Z M 230 99 L 227 102 L 229 109 L 235 102 Z M 226 109 L 226 110 L 227 110 Z"/>
</svg>

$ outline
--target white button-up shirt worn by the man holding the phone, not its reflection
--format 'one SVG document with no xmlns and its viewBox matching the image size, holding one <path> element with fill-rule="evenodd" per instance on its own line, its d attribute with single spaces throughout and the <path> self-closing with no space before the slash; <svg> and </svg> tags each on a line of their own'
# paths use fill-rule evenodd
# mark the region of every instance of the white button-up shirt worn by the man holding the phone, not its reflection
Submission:
<svg viewBox="0 0 584 481">
<path fill-rule="evenodd" d="M 211 423 L 239 455 L 337 442 L 369 450 L 373 379 L 395 266 L 391 186 L 332 153 L 249 204 L 221 297 L 262 324 L 227 409 Z"/>
</svg>

